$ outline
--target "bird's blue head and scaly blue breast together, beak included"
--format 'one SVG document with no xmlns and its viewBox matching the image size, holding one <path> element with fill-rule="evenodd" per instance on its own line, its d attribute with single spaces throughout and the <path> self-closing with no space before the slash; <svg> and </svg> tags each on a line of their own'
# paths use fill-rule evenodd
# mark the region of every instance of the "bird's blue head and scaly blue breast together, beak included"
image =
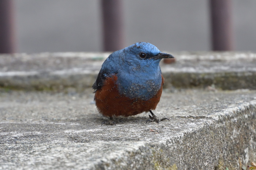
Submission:
<svg viewBox="0 0 256 170">
<path fill-rule="evenodd" d="M 120 94 L 130 99 L 152 98 L 162 86 L 159 62 L 163 58 L 174 57 L 145 42 L 135 43 L 114 52 L 111 60 L 116 64 Z"/>
</svg>

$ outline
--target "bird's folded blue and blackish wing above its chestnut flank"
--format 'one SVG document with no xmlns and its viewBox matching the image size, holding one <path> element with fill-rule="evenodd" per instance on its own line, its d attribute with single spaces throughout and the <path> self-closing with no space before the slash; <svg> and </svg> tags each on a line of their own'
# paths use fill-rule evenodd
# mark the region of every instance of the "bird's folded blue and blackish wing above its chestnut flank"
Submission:
<svg viewBox="0 0 256 170">
<path fill-rule="evenodd" d="M 115 69 L 115 64 L 112 62 L 110 58 L 106 59 L 102 64 L 101 71 L 99 71 L 98 77 L 93 84 L 93 89 L 95 91 L 101 89 L 103 86 L 104 80 L 114 74 L 117 74 L 117 70 Z M 94 91 L 94 92 L 95 92 Z"/>
</svg>

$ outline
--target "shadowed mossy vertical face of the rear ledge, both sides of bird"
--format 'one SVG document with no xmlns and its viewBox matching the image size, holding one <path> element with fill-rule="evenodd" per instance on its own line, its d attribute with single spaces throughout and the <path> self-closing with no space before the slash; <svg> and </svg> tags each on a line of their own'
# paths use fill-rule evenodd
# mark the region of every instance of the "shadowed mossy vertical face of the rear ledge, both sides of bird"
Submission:
<svg viewBox="0 0 256 170">
<path fill-rule="evenodd" d="M 214 84 L 221 90 L 241 88 L 256 89 L 256 72 L 175 72 L 163 73 L 164 88 L 206 88 Z M 12 90 L 65 91 L 75 88 L 83 91 L 91 88 L 96 75 L 42 76 L 9 78 L 0 80 L 0 87 Z"/>
</svg>

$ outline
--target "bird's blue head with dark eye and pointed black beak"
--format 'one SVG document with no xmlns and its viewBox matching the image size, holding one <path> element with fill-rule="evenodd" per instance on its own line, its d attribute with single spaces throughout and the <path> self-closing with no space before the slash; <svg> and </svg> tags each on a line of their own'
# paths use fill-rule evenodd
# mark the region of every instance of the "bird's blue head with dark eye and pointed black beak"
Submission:
<svg viewBox="0 0 256 170">
<path fill-rule="evenodd" d="M 174 58 L 172 55 L 163 53 L 153 44 L 139 42 L 123 49 L 120 55 L 121 65 L 132 70 L 144 70 L 145 67 L 152 69 L 159 67 L 159 62 L 164 58 Z"/>
</svg>

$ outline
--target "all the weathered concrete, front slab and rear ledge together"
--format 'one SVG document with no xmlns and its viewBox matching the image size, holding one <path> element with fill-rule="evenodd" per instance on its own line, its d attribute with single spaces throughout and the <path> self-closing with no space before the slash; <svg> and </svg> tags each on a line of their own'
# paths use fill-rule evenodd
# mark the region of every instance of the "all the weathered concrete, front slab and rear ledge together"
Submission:
<svg viewBox="0 0 256 170">
<path fill-rule="evenodd" d="M 256 54 L 180 52 L 154 111 L 101 126 L 107 53 L 0 55 L 0 169 L 240 169 L 256 160 Z M 195 88 L 194 88 L 195 87 Z M 37 91 L 39 90 L 39 91 Z"/>
</svg>

